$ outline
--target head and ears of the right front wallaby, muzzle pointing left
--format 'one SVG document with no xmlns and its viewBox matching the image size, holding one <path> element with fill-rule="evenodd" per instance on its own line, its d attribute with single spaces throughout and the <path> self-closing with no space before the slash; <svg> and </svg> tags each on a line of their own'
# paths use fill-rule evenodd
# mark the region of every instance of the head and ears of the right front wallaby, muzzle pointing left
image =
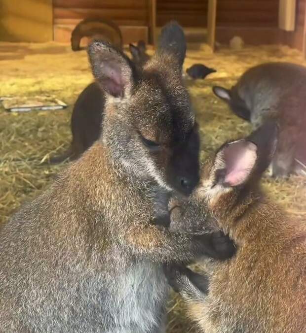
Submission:
<svg viewBox="0 0 306 333">
<path fill-rule="evenodd" d="M 170 202 L 170 228 L 228 233 L 230 223 L 261 197 L 258 186 L 275 151 L 277 132 L 271 121 L 245 139 L 223 144 L 205 161 L 189 202 Z"/>
</svg>

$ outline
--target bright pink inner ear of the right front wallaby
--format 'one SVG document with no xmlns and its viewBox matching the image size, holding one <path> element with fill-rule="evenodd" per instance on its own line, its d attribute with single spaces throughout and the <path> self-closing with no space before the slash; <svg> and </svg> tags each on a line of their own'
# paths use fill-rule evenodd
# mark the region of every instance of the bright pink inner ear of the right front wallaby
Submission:
<svg viewBox="0 0 306 333">
<path fill-rule="evenodd" d="M 257 147 L 252 142 L 235 141 L 224 149 L 226 176 L 224 181 L 237 186 L 246 181 L 255 166 Z"/>
</svg>

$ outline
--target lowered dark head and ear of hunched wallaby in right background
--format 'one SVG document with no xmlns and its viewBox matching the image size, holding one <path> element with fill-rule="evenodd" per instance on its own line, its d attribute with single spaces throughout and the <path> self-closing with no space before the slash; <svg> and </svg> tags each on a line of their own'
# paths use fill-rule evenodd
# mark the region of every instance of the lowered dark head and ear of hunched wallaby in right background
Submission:
<svg viewBox="0 0 306 333">
<path fill-rule="evenodd" d="M 229 104 L 230 109 L 238 117 L 248 121 L 251 120 L 251 112 L 246 102 L 240 98 L 236 86 L 233 86 L 230 90 L 223 87 L 214 86 L 213 92 L 217 97 L 226 101 Z"/>
</svg>

